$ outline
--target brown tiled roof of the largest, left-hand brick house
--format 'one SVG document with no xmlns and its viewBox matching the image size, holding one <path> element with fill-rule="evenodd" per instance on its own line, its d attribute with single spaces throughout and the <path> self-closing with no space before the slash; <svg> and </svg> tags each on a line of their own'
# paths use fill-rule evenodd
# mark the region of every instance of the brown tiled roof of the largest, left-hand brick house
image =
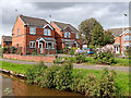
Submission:
<svg viewBox="0 0 131 98">
<path fill-rule="evenodd" d="M 44 27 L 45 25 L 49 24 L 46 20 L 44 19 L 37 19 L 37 17 L 31 17 L 31 16 L 25 16 L 25 15 L 20 15 L 22 21 L 24 22 L 25 25 L 29 26 L 39 26 Z"/>
</svg>

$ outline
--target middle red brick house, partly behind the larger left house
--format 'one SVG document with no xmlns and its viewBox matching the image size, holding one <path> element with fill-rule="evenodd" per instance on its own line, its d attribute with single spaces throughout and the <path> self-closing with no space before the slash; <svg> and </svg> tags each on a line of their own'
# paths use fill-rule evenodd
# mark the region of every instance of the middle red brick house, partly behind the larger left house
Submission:
<svg viewBox="0 0 131 98">
<path fill-rule="evenodd" d="M 50 25 L 56 29 L 55 38 L 57 40 L 57 49 L 78 47 L 82 48 L 79 30 L 71 24 L 50 22 Z"/>
</svg>

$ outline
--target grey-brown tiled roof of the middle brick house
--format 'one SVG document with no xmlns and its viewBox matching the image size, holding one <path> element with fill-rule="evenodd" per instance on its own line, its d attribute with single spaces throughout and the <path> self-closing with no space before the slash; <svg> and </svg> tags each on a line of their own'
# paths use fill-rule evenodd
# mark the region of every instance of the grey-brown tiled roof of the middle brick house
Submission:
<svg viewBox="0 0 131 98">
<path fill-rule="evenodd" d="M 71 28 L 71 32 L 79 32 L 75 27 L 73 27 L 71 24 L 67 24 L 67 23 L 61 23 L 61 22 L 55 22 L 51 21 L 52 23 L 55 23 L 58 27 L 61 28 L 61 30 L 64 30 L 66 28 Z"/>
</svg>

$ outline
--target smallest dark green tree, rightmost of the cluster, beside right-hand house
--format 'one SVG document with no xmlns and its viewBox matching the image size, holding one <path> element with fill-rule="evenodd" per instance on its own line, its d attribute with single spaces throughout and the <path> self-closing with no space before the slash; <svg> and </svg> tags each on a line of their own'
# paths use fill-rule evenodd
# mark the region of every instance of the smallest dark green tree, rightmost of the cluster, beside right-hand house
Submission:
<svg viewBox="0 0 131 98">
<path fill-rule="evenodd" d="M 104 45 L 112 45 L 115 42 L 115 36 L 106 30 L 104 33 Z"/>
</svg>

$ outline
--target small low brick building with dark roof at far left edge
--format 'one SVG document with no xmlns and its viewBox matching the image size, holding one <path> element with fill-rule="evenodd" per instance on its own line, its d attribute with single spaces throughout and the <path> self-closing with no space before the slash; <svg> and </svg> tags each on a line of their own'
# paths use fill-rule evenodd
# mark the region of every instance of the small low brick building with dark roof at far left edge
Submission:
<svg viewBox="0 0 131 98">
<path fill-rule="evenodd" d="M 11 46 L 12 46 L 12 36 L 2 36 L 1 48 L 11 47 Z"/>
</svg>

